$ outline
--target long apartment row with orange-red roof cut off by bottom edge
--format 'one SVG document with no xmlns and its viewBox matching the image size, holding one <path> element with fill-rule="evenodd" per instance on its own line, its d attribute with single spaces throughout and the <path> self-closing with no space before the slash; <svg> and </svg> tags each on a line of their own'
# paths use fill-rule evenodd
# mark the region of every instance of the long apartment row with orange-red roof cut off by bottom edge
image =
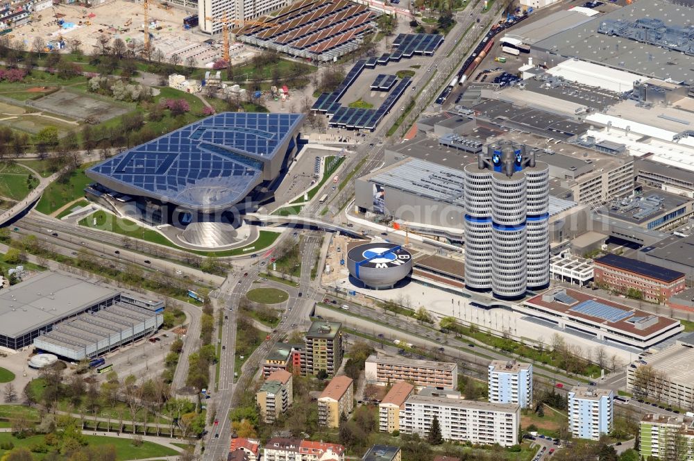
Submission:
<svg viewBox="0 0 694 461">
<path fill-rule="evenodd" d="M 273 437 L 265 444 L 264 461 L 344 461 L 345 447 L 289 437 Z"/>
</svg>

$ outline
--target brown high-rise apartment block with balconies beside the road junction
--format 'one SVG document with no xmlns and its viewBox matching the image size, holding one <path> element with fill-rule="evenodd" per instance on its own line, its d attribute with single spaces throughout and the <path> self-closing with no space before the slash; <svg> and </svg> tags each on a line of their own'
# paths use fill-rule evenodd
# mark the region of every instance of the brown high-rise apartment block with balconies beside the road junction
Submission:
<svg viewBox="0 0 694 461">
<path fill-rule="evenodd" d="M 305 374 L 317 375 L 325 370 L 335 375 L 344 355 L 342 324 L 335 321 L 314 321 L 305 337 Z"/>
</svg>

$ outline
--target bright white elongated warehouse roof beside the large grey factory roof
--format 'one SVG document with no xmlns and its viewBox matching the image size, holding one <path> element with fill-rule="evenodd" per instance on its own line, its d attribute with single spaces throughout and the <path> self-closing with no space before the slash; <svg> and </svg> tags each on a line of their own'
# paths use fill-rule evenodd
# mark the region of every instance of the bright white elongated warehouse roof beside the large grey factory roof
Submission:
<svg viewBox="0 0 694 461">
<path fill-rule="evenodd" d="M 623 93 L 634 89 L 634 82 L 646 77 L 619 69 L 612 69 L 592 62 L 569 59 L 547 71 L 568 81 L 583 83 L 604 90 Z"/>
</svg>

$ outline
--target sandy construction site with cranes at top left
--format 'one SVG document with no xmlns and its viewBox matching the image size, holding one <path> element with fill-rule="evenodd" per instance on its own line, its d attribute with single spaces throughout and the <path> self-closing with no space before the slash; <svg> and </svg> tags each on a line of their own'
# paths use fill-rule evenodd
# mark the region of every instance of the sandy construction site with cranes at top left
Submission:
<svg viewBox="0 0 694 461">
<path fill-rule="evenodd" d="M 196 33 L 197 28 L 188 30 L 183 26 L 189 12 L 159 1 L 146 4 L 151 49 L 162 51 L 165 60 L 177 54 L 180 62 L 185 63 L 192 56 L 197 67 L 205 67 L 221 58 L 221 40 L 210 40 L 209 36 Z M 145 37 L 144 8 L 143 3 L 125 0 L 112 0 L 94 8 L 53 5 L 35 13 L 30 24 L 15 28 L 12 40 L 22 40 L 26 49 L 32 49 L 35 37 L 42 37 L 49 49 L 68 49 L 71 40 L 76 39 L 84 53 L 91 53 L 102 35 L 110 40 L 120 38 L 126 44 L 137 40 L 141 45 Z M 242 44 L 232 44 L 231 48 L 232 61 L 242 62 L 255 53 Z"/>
</svg>

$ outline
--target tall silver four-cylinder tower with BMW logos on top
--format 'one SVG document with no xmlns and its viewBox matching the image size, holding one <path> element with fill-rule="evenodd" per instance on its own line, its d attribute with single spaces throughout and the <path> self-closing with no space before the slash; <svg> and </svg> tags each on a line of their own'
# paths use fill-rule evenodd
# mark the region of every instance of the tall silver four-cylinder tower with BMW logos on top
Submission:
<svg viewBox="0 0 694 461">
<path fill-rule="evenodd" d="M 548 286 L 549 166 L 501 141 L 464 174 L 466 287 L 518 299 Z"/>
</svg>

